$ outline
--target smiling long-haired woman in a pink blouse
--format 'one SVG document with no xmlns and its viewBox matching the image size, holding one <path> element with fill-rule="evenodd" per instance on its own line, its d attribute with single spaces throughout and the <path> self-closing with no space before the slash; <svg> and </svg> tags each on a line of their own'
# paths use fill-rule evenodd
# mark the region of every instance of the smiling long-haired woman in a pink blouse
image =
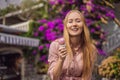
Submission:
<svg viewBox="0 0 120 80">
<path fill-rule="evenodd" d="M 64 19 L 64 38 L 50 45 L 51 80 L 91 80 L 96 52 L 84 16 L 78 10 L 69 11 Z"/>
</svg>

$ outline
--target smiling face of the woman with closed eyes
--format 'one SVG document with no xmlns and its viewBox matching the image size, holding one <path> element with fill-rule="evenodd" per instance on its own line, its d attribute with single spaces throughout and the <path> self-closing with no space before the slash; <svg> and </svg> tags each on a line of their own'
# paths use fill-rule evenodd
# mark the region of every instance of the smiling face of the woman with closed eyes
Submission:
<svg viewBox="0 0 120 80">
<path fill-rule="evenodd" d="M 71 12 L 68 15 L 66 28 L 70 36 L 80 36 L 83 30 L 83 20 L 81 15 L 77 12 Z"/>
</svg>

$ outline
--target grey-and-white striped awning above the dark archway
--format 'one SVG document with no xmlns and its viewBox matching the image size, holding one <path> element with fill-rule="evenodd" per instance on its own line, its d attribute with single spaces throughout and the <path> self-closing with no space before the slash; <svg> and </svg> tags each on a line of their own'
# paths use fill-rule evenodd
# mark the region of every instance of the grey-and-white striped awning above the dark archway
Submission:
<svg viewBox="0 0 120 80">
<path fill-rule="evenodd" d="M 0 33 L 0 43 L 17 45 L 17 46 L 38 47 L 39 39 Z"/>
</svg>

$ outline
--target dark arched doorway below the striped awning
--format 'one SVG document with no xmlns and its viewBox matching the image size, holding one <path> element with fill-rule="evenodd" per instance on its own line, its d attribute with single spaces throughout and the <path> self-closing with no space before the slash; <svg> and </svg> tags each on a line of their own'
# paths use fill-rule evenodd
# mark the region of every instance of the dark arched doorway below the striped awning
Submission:
<svg viewBox="0 0 120 80">
<path fill-rule="evenodd" d="M 0 52 L 0 80 L 22 80 L 21 53 L 14 50 Z"/>
</svg>

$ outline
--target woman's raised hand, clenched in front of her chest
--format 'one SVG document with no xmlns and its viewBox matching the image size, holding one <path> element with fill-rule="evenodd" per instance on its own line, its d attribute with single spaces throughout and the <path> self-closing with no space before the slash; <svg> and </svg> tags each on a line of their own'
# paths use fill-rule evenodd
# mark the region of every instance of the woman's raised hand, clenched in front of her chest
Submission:
<svg viewBox="0 0 120 80">
<path fill-rule="evenodd" d="M 60 48 L 59 48 L 58 54 L 59 54 L 59 59 L 60 59 L 61 61 L 64 61 L 64 60 L 65 60 L 65 57 L 66 57 L 66 55 L 67 55 L 66 47 L 63 46 L 63 45 L 61 45 Z"/>
</svg>

